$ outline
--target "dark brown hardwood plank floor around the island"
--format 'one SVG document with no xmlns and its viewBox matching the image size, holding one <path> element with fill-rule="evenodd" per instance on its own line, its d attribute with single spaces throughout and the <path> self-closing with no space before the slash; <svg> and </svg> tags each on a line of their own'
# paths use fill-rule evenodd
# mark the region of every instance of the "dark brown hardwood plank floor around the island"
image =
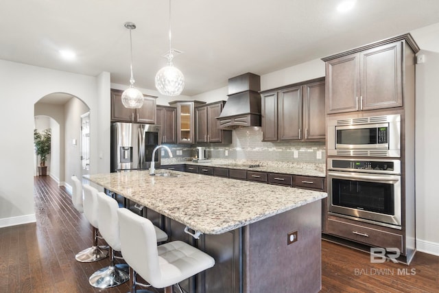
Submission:
<svg viewBox="0 0 439 293">
<path fill-rule="evenodd" d="M 108 259 L 75 260 L 75 253 L 91 246 L 92 231 L 64 187 L 49 176 L 37 176 L 34 200 L 36 223 L 0 228 L 0 292 L 128 292 L 128 283 L 106 290 L 88 284 Z M 439 257 L 416 253 L 410 266 L 370 263 L 367 253 L 322 241 L 320 292 L 437 293 Z"/>
</svg>

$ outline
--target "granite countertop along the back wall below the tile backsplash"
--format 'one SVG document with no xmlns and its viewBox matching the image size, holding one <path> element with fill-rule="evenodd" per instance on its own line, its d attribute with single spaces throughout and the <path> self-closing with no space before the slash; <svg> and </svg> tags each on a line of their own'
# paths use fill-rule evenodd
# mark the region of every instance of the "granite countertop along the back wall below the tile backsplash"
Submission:
<svg viewBox="0 0 439 293">
<path fill-rule="evenodd" d="M 326 165 L 321 163 L 291 163 L 278 161 L 248 161 L 248 160 L 226 160 L 226 159 L 208 159 L 200 162 L 192 161 L 173 161 L 162 159 L 161 165 L 172 164 L 198 165 L 206 167 L 224 167 L 230 169 L 246 169 L 259 172 L 272 172 L 279 174 L 292 174 L 303 176 L 326 177 Z M 253 167 L 259 165 L 260 167 Z M 252 167 L 249 167 L 252 166 Z"/>
</svg>

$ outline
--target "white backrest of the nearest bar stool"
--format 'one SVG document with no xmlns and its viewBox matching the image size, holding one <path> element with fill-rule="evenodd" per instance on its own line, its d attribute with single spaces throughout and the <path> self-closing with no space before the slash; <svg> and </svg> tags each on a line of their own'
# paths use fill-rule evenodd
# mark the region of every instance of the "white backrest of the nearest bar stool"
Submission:
<svg viewBox="0 0 439 293">
<path fill-rule="evenodd" d="M 123 259 L 148 283 L 161 279 L 154 225 L 147 218 L 125 208 L 118 209 L 117 213 Z"/>
</svg>

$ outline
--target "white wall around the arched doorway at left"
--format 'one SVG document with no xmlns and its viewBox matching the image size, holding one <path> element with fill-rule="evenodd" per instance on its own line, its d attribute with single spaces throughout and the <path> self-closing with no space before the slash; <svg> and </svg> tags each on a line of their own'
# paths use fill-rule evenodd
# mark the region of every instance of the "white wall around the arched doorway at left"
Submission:
<svg viewBox="0 0 439 293">
<path fill-rule="evenodd" d="M 105 97 L 101 96 L 105 94 L 103 91 L 98 91 L 101 87 L 108 89 Z M 80 97 L 95 111 L 95 116 L 91 117 L 91 125 L 95 125 L 91 135 L 109 133 L 109 130 L 106 132 L 106 129 L 101 129 L 105 126 L 97 123 L 100 117 L 97 101 L 102 100 L 100 107 L 110 108 L 109 74 L 95 78 L 0 60 L 0 89 L 0 124 L 5 133 L 14 137 L 8 143 L 0 143 L 0 154 L 3 154 L 2 163 L 5 166 L 0 169 L 0 226 L 35 222 L 34 104 L 49 93 L 70 93 Z M 108 172 L 110 136 L 102 140 L 99 148 L 108 154 L 108 166 L 104 162 L 101 168 Z M 95 165 L 91 165 L 91 173 L 99 169 L 98 152 L 92 148 L 91 156 Z"/>
</svg>

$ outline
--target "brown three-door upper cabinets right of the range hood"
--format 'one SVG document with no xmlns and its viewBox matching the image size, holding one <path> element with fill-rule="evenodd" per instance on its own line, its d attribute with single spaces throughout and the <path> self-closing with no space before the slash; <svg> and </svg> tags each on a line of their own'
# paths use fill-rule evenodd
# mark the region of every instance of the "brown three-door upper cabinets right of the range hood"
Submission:
<svg viewBox="0 0 439 293">
<path fill-rule="evenodd" d="M 324 79 L 264 91 L 261 97 L 263 141 L 324 140 Z"/>
</svg>

